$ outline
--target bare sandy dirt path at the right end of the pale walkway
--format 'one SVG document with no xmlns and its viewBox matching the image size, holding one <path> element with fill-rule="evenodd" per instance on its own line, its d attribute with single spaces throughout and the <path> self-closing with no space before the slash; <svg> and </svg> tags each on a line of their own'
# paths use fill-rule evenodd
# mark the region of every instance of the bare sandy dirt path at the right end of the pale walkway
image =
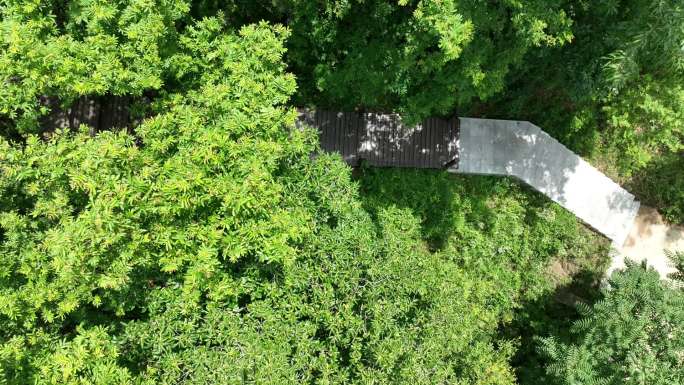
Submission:
<svg viewBox="0 0 684 385">
<path fill-rule="evenodd" d="M 624 267 L 625 258 L 653 266 L 662 277 L 675 271 L 665 251 L 684 251 L 684 226 L 670 225 L 653 208 L 641 206 L 624 245 L 613 256 L 608 274 Z"/>
</svg>

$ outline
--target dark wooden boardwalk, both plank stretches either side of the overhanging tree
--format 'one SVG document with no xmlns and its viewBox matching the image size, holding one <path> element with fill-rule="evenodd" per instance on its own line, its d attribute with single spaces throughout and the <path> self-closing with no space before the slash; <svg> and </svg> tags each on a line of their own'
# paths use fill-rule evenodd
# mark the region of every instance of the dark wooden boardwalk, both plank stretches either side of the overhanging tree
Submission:
<svg viewBox="0 0 684 385">
<path fill-rule="evenodd" d="M 55 98 L 43 98 L 51 112 L 41 119 L 47 132 L 56 128 L 76 129 L 81 124 L 91 132 L 112 128 L 130 129 L 129 97 L 84 96 L 68 108 Z M 416 126 L 405 126 L 397 114 L 299 110 L 297 126 L 318 130 L 321 148 L 338 152 L 351 166 L 365 161 L 376 167 L 457 168 L 459 119 L 429 118 Z"/>
</svg>

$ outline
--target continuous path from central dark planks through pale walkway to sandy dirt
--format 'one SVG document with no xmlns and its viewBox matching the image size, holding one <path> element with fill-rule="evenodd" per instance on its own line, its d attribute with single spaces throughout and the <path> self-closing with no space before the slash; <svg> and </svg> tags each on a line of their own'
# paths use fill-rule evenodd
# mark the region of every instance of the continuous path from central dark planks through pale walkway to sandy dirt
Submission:
<svg viewBox="0 0 684 385">
<path fill-rule="evenodd" d="M 517 178 L 612 241 L 610 274 L 625 258 L 646 260 L 665 278 L 665 250 L 684 251 L 684 227 L 668 225 L 634 195 L 530 122 L 431 118 L 404 126 L 397 114 L 301 109 L 321 147 L 358 166 L 446 169 Z"/>
</svg>

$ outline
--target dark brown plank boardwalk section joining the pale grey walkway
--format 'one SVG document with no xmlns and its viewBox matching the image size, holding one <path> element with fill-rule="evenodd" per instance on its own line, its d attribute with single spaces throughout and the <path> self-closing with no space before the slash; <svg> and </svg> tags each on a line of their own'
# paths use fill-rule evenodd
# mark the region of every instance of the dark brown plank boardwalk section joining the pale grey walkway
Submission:
<svg viewBox="0 0 684 385">
<path fill-rule="evenodd" d="M 316 128 L 321 147 L 338 152 L 351 166 L 458 167 L 458 118 L 429 118 L 417 126 L 397 114 L 299 111 L 298 127 Z"/>
</svg>

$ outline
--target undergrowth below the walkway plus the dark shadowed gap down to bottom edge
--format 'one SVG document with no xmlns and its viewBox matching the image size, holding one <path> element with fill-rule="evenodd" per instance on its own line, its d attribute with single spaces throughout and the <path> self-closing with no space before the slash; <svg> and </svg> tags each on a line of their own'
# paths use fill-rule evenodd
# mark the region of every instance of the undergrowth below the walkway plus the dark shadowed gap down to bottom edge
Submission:
<svg viewBox="0 0 684 385">
<path fill-rule="evenodd" d="M 607 268 L 607 242 L 511 180 L 365 169 L 360 181 L 371 212 L 393 205 L 411 210 L 433 248 L 458 255 L 468 271 L 497 282 L 496 301 L 515 307 L 499 338 L 519 341 L 512 360 L 518 381 L 544 383 L 534 338 L 560 334 L 578 317 L 568 300 L 594 299 Z"/>
</svg>

